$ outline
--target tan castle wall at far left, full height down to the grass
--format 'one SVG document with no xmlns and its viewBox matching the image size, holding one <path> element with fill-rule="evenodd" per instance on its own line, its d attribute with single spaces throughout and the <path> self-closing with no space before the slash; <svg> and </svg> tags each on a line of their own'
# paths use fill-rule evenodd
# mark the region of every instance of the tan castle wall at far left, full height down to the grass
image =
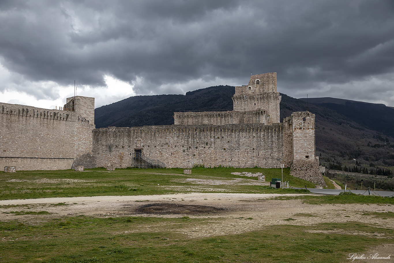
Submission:
<svg viewBox="0 0 394 263">
<path fill-rule="evenodd" d="M 69 169 L 82 152 L 91 153 L 94 125 L 73 111 L 0 103 L 0 127 L 0 167 Z"/>
</svg>

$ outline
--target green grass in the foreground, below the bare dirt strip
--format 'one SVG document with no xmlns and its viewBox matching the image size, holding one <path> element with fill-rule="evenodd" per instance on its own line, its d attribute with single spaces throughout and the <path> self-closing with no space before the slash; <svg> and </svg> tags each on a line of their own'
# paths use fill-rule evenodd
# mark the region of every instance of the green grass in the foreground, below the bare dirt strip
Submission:
<svg viewBox="0 0 394 263">
<path fill-rule="evenodd" d="M 41 224 L 2 222 L 1 262 L 346 262 L 352 252 L 381 244 L 370 235 L 324 233 L 362 231 L 385 235 L 392 229 L 351 222 L 306 226 L 271 226 L 264 231 L 191 239 L 174 230 L 210 219 L 85 216 Z M 152 227 L 153 226 L 153 227 Z M 158 228 L 157 226 L 160 226 Z M 135 229 L 152 231 L 132 233 Z"/>
</svg>

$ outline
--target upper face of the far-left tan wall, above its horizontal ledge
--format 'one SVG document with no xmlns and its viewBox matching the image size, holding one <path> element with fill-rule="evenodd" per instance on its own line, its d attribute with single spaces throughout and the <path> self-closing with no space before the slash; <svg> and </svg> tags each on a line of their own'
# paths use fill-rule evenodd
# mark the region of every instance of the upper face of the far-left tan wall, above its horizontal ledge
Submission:
<svg viewBox="0 0 394 263">
<path fill-rule="evenodd" d="M 73 114 L 1 103 L 0 157 L 74 158 Z"/>
</svg>

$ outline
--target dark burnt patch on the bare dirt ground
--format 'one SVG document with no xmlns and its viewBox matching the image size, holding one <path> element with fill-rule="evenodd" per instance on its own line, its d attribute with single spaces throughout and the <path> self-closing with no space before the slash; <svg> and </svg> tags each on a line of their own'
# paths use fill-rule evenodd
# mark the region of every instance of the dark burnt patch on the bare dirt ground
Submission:
<svg viewBox="0 0 394 263">
<path fill-rule="evenodd" d="M 150 203 L 136 209 L 140 214 L 156 215 L 209 215 L 223 212 L 224 208 L 207 205 L 186 205 L 177 203 Z"/>
</svg>

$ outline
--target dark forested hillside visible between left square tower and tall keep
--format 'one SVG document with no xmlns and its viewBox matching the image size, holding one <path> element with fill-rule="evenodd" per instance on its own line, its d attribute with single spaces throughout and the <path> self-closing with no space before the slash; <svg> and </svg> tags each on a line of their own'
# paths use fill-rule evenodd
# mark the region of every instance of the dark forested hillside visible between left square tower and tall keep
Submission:
<svg viewBox="0 0 394 263">
<path fill-rule="evenodd" d="M 174 124 L 181 110 L 232 110 L 233 86 L 214 86 L 186 95 L 134 96 L 95 109 L 97 128 Z"/>
</svg>

